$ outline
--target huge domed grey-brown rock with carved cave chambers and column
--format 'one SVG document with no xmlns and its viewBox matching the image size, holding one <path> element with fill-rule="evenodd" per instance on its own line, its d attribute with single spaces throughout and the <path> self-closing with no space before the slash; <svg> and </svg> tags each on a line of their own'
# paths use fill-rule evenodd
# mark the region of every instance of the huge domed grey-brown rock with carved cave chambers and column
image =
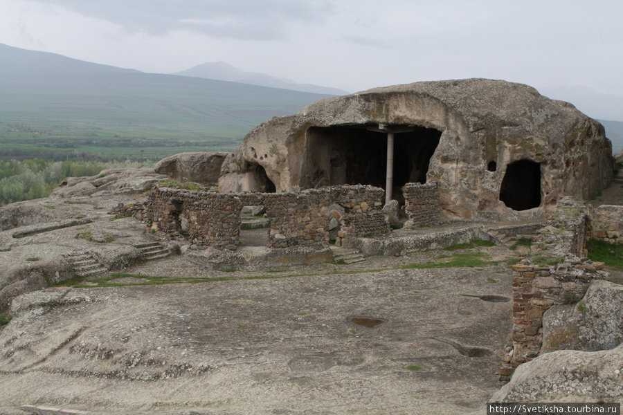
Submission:
<svg viewBox="0 0 623 415">
<path fill-rule="evenodd" d="M 608 185 L 611 154 L 602 124 L 530 86 L 416 82 L 260 124 L 224 161 L 219 190 L 362 184 L 400 201 L 406 183 L 435 181 L 449 219 L 540 219 L 562 196 L 588 199 Z"/>
</svg>

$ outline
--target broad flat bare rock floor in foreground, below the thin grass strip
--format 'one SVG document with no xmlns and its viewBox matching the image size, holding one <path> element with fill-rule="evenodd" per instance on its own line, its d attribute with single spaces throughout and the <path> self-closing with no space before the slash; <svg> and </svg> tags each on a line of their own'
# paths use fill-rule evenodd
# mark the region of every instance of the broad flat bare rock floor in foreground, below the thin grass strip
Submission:
<svg viewBox="0 0 623 415">
<path fill-rule="evenodd" d="M 21 295 L 0 332 L 0 407 L 464 414 L 499 387 L 511 303 L 459 294 L 508 296 L 509 275 L 491 284 L 469 268 L 322 269 Z"/>
</svg>

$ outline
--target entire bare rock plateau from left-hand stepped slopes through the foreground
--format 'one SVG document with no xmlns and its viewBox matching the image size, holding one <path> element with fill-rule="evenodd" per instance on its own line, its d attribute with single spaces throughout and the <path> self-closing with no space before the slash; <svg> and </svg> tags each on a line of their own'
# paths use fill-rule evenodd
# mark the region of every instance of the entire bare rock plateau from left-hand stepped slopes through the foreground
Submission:
<svg viewBox="0 0 623 415">
<path fill-rule="evenodd" d="M 510 264 L 528 249 L 518 239 L 208 269 L 188 241 L 109 213 L 163 182 L 153 169 L 105 171 L 0 208 L 5 309 L 12 299 L 0 414 L 465 414 L 503 386 Z M 391 237 L 462 241 L 500 226 Z M 239 252 L 267 249 L 265 232 L 242 231 Z"/>
</svg>

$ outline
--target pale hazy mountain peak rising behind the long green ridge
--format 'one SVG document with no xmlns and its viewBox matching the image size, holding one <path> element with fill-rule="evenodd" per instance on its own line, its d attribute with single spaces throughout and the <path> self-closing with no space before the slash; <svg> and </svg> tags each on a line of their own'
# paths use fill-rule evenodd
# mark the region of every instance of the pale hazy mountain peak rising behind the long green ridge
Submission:
<svg viewBox="0 0 623 415">
<path fill-rule="evenodd" d="M 290 89 L 291 91 L 303 91 L 311 93 L 323 93 L 327 95 L 347 95 L 346 91 L 326 86 L 311 84 L 296 84 L 291 80 L 272 77 L 265 73 L 255 73 L 241 71 L 226 62 L 207 62 L 194 66 L 186 71 L 176 72 L 172 75 L 183 75 L 201 77 L 210 80 L 221 80 L 230 82 L 240 82 L 241 84 L 251 84 L 269 86 L 271 88 Z"/>
</svg>

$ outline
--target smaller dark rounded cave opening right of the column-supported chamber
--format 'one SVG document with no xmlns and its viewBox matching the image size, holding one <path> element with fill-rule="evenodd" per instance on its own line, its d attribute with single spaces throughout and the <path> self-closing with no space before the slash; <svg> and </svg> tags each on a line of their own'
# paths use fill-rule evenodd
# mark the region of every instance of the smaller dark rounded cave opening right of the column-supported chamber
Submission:
<svg viewBox="0 0 623 415">
<path fill-rule="evenodd" d="M 528 210 L 541 205 L 541 164 L 519 160 L 506 167 L 500 186 L 500 201 L 512 210 Z"/>
</svg>

